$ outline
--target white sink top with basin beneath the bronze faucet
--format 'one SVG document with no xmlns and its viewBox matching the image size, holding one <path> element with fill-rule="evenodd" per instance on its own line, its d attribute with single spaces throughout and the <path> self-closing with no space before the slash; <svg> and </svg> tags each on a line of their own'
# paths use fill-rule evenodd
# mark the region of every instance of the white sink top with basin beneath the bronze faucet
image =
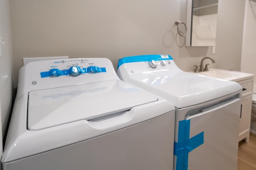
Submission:
<svg viewBox="0 0 256 170">
<path fill-rule="evenodd" d="M 195 74 L 200 74 L 203 76 L 209 76 L 209 77 L 214 77 L 214 78 L 220 78 L 224 80 L 231 80 L 231 81 L 240 81 L 244 80 L 244 78 L 252 78 L 254 75 L 253 74 L 248 74 L 244 72 L 238 72 L 238 71 L 229 71 L 229 70 L 221 70 L 221 69 L 216 69 L 216 68 L 211 68 L 209 71 L 205 72 L 193 72 Z"/>
</svg>

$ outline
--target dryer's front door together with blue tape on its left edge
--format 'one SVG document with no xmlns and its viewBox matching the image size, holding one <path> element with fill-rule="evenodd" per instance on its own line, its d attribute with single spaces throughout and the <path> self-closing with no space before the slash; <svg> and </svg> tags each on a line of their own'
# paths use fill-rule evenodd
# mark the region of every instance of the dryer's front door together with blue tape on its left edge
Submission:
<svg viewBox="0 0 256 170">
<path fill-rule="evenodd" d="M 176 146 L 185 149 L 175 149 L 175 169 L 236 169 L 240 107 L 240 99 L 235 98 L 179 121 Z"/>
</svg>

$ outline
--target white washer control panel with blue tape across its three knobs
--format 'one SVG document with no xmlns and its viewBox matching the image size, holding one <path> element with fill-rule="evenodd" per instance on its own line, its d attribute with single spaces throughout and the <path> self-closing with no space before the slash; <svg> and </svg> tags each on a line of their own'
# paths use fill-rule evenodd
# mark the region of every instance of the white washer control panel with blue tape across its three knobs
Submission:
<svg viewBox="0 0 256 170">
<path fill-rule="evenodd" d="M 22 66 L 19 74 L 18 86 L 23 92 L 120 80 L 106 58 L 36 61 Z"/>
</svg>

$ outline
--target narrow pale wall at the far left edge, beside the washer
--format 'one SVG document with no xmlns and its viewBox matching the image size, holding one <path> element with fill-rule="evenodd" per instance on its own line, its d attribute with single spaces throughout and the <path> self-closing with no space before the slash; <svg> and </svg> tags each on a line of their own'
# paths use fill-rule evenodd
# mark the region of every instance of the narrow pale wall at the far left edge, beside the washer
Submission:
<svg viewBox="0 0 256 170">
<path fill-rule="evenodd" d="M 2 41 L 2 56 L 0 56 L 0 123 L 2 134 L 6 128 L 12 106 L 12 42 L 8 0 L 0 0 L 0 29 Z M 0 132 L 0 134 L 1 134 Z M 2 140 L 1 140 L 2 141 Z M 0 148 L 2 145 L 0 145 Z M 2 148 L 1 148 L 2 149 Z M 1 150 L 0 149 L 0 150 Z"/>
</svg>

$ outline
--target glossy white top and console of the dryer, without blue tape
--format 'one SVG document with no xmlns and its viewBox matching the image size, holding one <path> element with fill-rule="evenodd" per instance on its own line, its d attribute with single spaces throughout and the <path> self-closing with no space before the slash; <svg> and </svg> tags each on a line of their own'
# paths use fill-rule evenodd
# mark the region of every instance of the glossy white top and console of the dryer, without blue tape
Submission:
<svg viewBox="0 0 256 170">
<path fill-rule="evenodd" d="M 242 89 L 236 82 L 183 72 L 173 60 L 166 62 L 163 66 L 157 61 L 155 69 L 147 66 L 148 62 L 124 63 L 117 74 L 121 80 L 153 92 L 177 108 L 204 103 Z"/>
</svg>

